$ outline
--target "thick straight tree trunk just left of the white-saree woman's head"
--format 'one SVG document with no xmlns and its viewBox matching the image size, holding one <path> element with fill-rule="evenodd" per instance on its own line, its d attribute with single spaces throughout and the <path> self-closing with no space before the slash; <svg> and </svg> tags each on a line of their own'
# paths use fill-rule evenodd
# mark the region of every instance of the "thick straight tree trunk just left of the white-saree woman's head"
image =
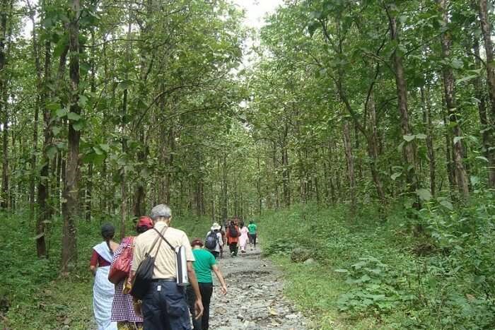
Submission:
<svg viewBox="0 0 495 330">
<path fill-rule="evenodd" d="M 70 111 L 81 114 L 79 100 L 79 0 L 72 0 L 71 21 L 69 22 L 69 77 Z M 62 273 L 74 269 L 77 260 L 76 217 L 78 216 L 79 192 L 79 140 L 81 133 L 69 122 L 67 165 L 62 201 L 64 228 L 62 234 Z"/>
</svg>

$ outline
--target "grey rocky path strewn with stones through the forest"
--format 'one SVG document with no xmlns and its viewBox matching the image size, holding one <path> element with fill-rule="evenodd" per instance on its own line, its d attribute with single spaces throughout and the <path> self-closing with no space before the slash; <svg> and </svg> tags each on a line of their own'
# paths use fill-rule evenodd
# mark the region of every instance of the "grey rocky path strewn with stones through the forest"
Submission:
<svg viewBox="0 0 495 330">
<path fill-rule="evenodd" d="M 228 250 L 228 249 L 227 249 Z M 293 302 L 282 293 L 281 274 L 271 262 L 250 250 L 238 257 L 219 259 L 228 294 L 218 286 L 211 297 L 210 329 L 215 330 L 305 330 L 307 322 Z M 216 280 L 216 278 L 215 278 Z"/>
</svg>

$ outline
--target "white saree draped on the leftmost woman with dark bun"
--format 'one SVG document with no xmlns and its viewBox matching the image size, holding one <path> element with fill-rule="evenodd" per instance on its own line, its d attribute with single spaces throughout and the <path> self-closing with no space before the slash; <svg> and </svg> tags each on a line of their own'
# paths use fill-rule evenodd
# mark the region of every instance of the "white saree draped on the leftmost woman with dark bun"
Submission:
<svg viewBox="0 0 495 330">
<path fill-rule="evenodd" d="M 101 242 L 93 247 L 100 257 L 108 262 L 112 261 L 112 254 L 106 242 Z M 111 322 L 112 302 L 115 286 L 108 281 L 110 266 L 98 267 L 95 273 L 95 284 L 93 285 L 93 311 L 98 330 L 117 330 L 117 322 Z"/>
</svg>

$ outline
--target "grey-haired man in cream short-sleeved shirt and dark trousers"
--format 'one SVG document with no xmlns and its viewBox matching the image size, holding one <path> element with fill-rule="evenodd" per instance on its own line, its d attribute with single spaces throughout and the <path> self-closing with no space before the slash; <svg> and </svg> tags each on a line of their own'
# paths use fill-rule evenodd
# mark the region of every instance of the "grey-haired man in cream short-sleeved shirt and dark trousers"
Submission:
<svg viewBox="0 0 495 330">
<path fill-rule="evenodd" d="M 165 204 L 153 207 L 150 217 L 154 223 L 153 229 L 143 232 L 134 240 L 134 257 L 130 276 L 132 281 L 132 278 L 136 276 L 139 264 L 142 261 L 149 260 L 149 258 L 145 260 L 147 254 L 155 256 L 152 280 L 151 283 L 146 283 L 146 291 L 142 297 L 141 312 L 144 329 L 191 330 L 185 288 L 182 285 L 182 276 L 180 276 L 182 267 L 177 268 L 177 254 L 172 248 L 180 247 L 182 249 L 183 247 L 185 249 L 187 275 L 196 297 L 194 307 L 197 311 L 197 317 L 201 317 L 203 304 L 196 274 L 192 266 L 194 255 L 192 254 L 189 239 L 182 230 L 170 227 L 172 211 Z M 156 244 L 158 247 L 155 247 L 156 240 L 160 240 L 160 243 Z M 162 241 L 163 244 L 161 244 Z M 177 271 L 179 276 L 177 276 Z M 136 277 L 136 280 L 138 278 L 139 276 Z M 136 282 L 133 284 L 136 285 Z"/>
</svg>

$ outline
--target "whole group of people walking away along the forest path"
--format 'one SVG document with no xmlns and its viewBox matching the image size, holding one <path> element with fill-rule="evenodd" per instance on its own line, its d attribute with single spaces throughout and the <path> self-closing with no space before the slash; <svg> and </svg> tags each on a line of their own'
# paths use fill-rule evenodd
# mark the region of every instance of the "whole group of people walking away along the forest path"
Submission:
<svg viewBox="0 0 495 330">
<path fill-rule="evenodd" d="M 98 330 L 209 329 L 212 273 L 218 278 L 221 293 L 227 293 L 216 259 L 223 257 L 225 245 L 231 257 L 238 255 L 238 244 L 241 254 L 248 242 L 251 249 L 255 248 L 257 226 L 253 221 L 245 226 L 238 219 L 228 220 L 224 226 L 214 223 L 204 240 L 195 238 L 190 242 L 185 232 L 170 227 L 171 220 L 168 206 L 155 206 L 149 217 L 143 216 L 137 222 L 136 237 L 124 237 L 120 244 L 114 241 L 115 228 L 110 224 L 102 226 L 103 242 L 93 247 L 90 261 L 95 276 L 93 310 Z M 151 278 L 146 282 L 146 293 L 138 299 L 132 290 L 133 282 L 143 281 L 140 265 L 150 260 Z M 122 274 L 125 261 L 129 269 Z M 187 280 L 184 283 L 180 278 Z"/>
</svg>

